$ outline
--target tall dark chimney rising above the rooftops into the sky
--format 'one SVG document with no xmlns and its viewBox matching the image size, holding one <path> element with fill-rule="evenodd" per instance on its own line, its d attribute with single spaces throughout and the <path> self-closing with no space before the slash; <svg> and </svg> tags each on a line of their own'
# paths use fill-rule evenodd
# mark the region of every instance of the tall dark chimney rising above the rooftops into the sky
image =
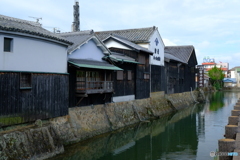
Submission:
<svg viewBox="0 0 240 160">
<path fill-rule="evenodd" d="M 75 5 L 73 6 L 73 24 L 72 24 L 72 32 L 80 31 L 80 21 L 79 21 L 79 2 L 75 1 Z"/>
</svg>

